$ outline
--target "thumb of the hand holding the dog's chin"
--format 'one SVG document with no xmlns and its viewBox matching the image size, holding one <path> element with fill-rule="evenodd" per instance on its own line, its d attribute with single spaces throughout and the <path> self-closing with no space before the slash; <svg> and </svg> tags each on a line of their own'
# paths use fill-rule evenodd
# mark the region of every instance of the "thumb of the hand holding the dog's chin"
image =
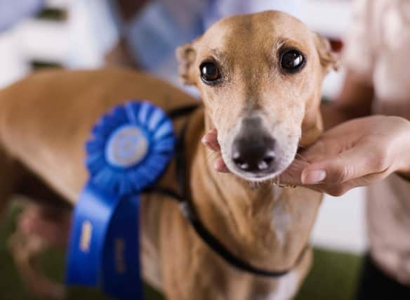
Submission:
<svg viewBox="0 0 410 300">
<path fill-rule="evenodd" d="M 340 184 L 378 171 L 383 167 L 376 149 L 355 145 L 335 157 L 313 162 L 302 171 L 301 181 L 304 185 Z"/>
</svg>

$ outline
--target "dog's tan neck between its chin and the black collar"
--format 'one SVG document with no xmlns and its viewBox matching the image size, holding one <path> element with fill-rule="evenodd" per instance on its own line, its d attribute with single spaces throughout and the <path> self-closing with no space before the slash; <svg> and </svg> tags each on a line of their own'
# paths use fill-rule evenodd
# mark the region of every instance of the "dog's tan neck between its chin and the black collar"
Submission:
<svg viewBox="0 0 410 300">
<path fill-rule="evenodd" d="M 198 142 L 208 126 L 202 123 L 201 130 L 194 129 Z M 191 189 L 204 226 L 231 252 L 255 266 L 291 267 L 307 242 L 315 218 L 315 213 L 307 214 L 312 219 L 306 222 L 310 223 L 304 229 L 307 233 L 300 233 L 302 237 L 294 234 L 298 227 L 295 223 L 304 218 L 297 219 L 300 209 L 294 209 L 294 202 L 289 201 L 298 189 L 283 190 L 272 183 L 250 183 L 233 174 L 220 174 L 213 169 L 215 154 L 202 145 L 198 147 L 190 168 Z"/>
</svg>

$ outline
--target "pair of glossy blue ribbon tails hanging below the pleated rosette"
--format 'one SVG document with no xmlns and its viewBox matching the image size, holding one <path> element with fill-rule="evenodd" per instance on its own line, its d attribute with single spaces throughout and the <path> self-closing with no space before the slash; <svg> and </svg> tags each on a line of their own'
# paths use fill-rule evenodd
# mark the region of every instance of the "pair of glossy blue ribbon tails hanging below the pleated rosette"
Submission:
<svg viewBox="0 0 410 300">
<path fill-rule="evenodd" d="M 119 197 L 88 183 L 74 209 L 67 284 L 99 287 L 116 299 L 143 299 L 140 198 Z"/>
</svg>

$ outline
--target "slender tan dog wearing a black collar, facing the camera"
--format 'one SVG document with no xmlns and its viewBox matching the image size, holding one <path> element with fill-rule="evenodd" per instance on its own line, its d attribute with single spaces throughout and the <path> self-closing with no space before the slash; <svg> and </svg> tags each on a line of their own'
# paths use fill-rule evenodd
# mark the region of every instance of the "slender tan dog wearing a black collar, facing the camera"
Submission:
<svg viewBox="0 0 410 300">
<path fill-rule="evenodd" d="M 174 122 L 176 133 L 187 124 L 192 206 L 242 261 L 289 272 L 269 278 L 235 268 L 197 235 L 175 201 L 148 193 L 140 217 L 143 276 L 167 299 L 292 299 L 310 268 L 307 244 L 322 194 L 273 183 L 298 147 L 322 133 L 322 81 L 337 57 L 326 39 L 279 11 L 220 20 L 176 53 L 180 79 L 202 98 L 201 107 Z M 121 69 L 38 72 L 0 91 L 1 204 L 13 194 L 75 204 L 88 177 L 84 143 L 93 124 L 135 98 L 165 111 L 197 103 L 159 79 Z M 201 145 L 211 129 L 231 174 L 213 171 L 214 157 Z M 176 188 L 175 168 L 171 162 L 157 184 Z M 53 242 L 20 232 L 11 246 L 37 294 L 63 296 L 31 265 Z"/>
</svg>

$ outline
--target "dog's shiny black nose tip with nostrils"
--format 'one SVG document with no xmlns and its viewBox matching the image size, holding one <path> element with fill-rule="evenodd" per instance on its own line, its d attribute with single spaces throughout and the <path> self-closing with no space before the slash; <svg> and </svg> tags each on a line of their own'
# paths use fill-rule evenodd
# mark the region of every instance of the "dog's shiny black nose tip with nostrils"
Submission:
<svg viewBox="0 0 410 300">
<path fill-rule="evenodd" d="M 232 145 L 232 160 L 243 171 L 268 173 L 275 167 L 275 140 L 260 135 L 237 138 Z"/>
</svg>

